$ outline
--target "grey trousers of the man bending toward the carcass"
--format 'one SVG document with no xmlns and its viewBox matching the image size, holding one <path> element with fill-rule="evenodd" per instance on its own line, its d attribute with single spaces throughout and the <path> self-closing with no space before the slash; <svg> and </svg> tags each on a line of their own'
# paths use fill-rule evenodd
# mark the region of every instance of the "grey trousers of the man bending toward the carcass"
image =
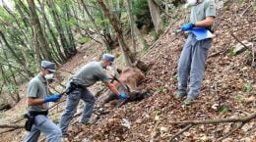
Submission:
<svg viewBox="0 0 256 142">
<path fill-rule="evenodd" d="M 60 129 L 63 134 L 67 133 L 68 125 L 74 114 L 77 112 L 77 107 L 80 99 L 85 102 L 84 110 L 80 122 L 90 120 L 95 105 L 95 96 L 88 89 L 75 89 L 67 96 L 66 108 L 60 118 Z"/>
</svg>

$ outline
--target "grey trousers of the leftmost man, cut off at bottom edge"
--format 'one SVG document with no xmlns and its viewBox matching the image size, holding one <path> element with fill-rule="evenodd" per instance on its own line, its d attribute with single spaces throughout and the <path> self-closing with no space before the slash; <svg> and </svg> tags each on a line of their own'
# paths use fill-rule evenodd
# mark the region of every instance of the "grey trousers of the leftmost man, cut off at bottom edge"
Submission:
<svg viewBox="0 0 256 142">
<path fill-rule="evenodd" d="M 48 142 L 60 142 L 61 141 L 61 130 L 52 122 L 49 118 L 38 115 L 34 118 L 34 124 L 32 130 L 24 139 L 24 142 L 36 142 L 42 132 Z"/>
</svg>

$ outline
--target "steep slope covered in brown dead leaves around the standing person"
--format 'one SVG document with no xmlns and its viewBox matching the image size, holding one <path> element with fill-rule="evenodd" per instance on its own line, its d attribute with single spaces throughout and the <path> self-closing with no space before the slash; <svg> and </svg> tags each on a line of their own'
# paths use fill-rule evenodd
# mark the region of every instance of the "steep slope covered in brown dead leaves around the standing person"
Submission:
<svg viewBox="0 0 256 142">
<path fill-rule="evenodd" d="M 255 10 L 246 8 L 252 0 L 224 5 L 215 24 L 215 39 L 207 62 L 202 92 L 190 107 L 182 107 L 172 95 L 176 89 L 176 66 L 184 34 L 175 33 L 185 23 L 183 10 L 177 10 L 181 18 L 160 38 L 158 44 L 145 54 L 144 61 L 152 65 L 143 85 L 154 95 L 142 102 L 129 103 L 112 110 L 91 126 L 72 130 L 75 139 L 90 138 L 95 141 L 167 141 L 172 134 L 185 125 L 171 124 L 171 121 L 207 118 L 238 118 L 255 112 L 255 69 L 251 67 L 252 55 L 245 51 L 237 56 L 231 49 L 239 40 L 255 43 Z M 255 7 L 255 6 L 254 6 Z M 255 9 L 255 8 L 254 8 Z M 246 10 L 246 11 L 245 11 Z M 240 15 L 243 14 L 242 17 Z M 218 53 L 218 54 L 216 54 Z M 122 125 L 122 118 L 131 122 L 131 127 Z M 217 141 L 236 124 L 209 124 L 192 127 L 180 135 L 178 141 Z M 254 141 L 255 121 L 237 130 L 225 141 Z"/>
</svg>

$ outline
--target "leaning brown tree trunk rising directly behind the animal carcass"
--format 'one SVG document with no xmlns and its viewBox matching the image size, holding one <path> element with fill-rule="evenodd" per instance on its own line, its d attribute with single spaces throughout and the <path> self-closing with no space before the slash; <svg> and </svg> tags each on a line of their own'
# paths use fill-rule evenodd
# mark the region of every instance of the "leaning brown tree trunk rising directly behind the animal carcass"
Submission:
<svg viewBox="0 0 256 142">
<path fill-rule="evenodd" d="M 109 10 L 106 8 L 105 4 L 103 3 L 103 0 L 96 0 L 98 5 L 103 11 L 103 14 L 106 18 L 108 18 L 110 24 L 113 26 L 116 34 L 117 34 L 117 39 L 118 42 L 121 46 L 121 49 L 124 54 L 126 66 L 132 66 L 132 63 L 135 62 L 134 55 L 132 54 L 131 50 L 128 48 L 127 44 L 124 41 L 123 37 L 123 31 L 121 29 L 121 25 L 117 18 L 109 12 Z"/>
</svg>

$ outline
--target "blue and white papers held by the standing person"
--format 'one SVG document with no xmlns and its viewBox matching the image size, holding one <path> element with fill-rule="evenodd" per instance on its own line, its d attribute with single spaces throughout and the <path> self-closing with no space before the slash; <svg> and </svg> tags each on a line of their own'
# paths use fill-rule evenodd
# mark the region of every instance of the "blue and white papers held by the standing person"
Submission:
<svg viewBox="0 0 256 142">
<path fill-rule="evenodd" d="M 215 35 L 205 27 L 193 27 L 188 31 L 196 35 L 197 40 L 203 40 L 207 38 L 213 38 Z"/>
</svg>

